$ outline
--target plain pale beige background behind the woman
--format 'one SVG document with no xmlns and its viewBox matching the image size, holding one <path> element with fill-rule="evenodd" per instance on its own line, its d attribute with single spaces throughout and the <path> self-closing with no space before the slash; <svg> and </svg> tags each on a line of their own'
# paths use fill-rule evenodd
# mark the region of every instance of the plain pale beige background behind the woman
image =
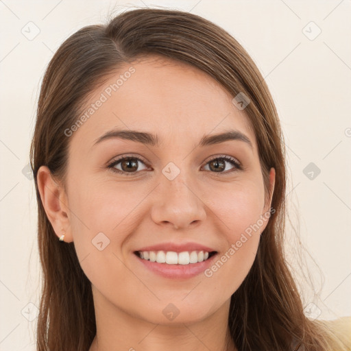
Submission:
<svg viewBox="0 0 351 351">
<path fill-rule="evenodd" d="M 34 182 L 27 164 L 40 80 L 64 39 L 84 25 L 105 23 L 123 4 L 199 14 L 250 53 L 285 134 L 291 223 L 321 269 L 304 254 L 303 271 L 311 271 L 317 293 L 297 273 L 306 315 L 351 315 L 350 0 L 1 0 L 0 351 L 35 350 L 40 265 Z M 287 234 L 287 256 L 298 267 L 298 239 L 289 221 Z"/>
</svg>

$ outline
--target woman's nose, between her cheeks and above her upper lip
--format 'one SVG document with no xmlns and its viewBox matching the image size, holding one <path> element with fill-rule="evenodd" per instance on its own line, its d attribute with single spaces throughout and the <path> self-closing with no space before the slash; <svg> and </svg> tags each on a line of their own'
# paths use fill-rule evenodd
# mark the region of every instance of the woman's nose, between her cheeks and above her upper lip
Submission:
<svg viewBox="0 0 351 351">
<path fill-rule="evenodd" d="M 206 218 L 205 204 L 193 182 L 186 182 L 180 173 L 175 179 L 163 178 L 156 188 L 152 219 L 158 225 L 175 229 L 193 228 Z"/>
</svg>

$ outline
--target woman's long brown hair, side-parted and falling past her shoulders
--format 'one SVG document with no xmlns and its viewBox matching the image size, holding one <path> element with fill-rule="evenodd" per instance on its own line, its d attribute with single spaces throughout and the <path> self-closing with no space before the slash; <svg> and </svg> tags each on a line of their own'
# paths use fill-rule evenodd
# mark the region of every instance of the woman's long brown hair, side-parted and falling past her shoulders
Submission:
<svg viewBox="0 0 351 351">
<path fill-rule="evenodd" d="M 90 25 L 71 35 L 43 78 L 30 151 L 43 267 L 38 351 L 86 351 L 96 333 L 90 281 L 74 243 L 62 245 L 45 215 L 38 169 L 46 165 L 64 182 L 70 140 L 64 130 L 77 121 L 97 84 L 119 66 L 148 54 L 186 62 L 217 80 L 232 97 L 249 97 L 245 112 L 256 134 L 266 195 L 269 169 L 276 170 L 271 203 L 275 213 L 261 235 L 249 274 L 230 302 L 228 323 L 238 350 L 293 350 L 292 344 L 296 350 L 298 345 L 299 350 L 331 350 L 332 333 L 304 315 L 285 261 L 285 143 L 265 80 L 237 40 L 214 23 L 188 12 L 147 8 L 121 12 L 107 25 Z M 344 350 L 342 344 L 339 350 Z"/>
</svg>

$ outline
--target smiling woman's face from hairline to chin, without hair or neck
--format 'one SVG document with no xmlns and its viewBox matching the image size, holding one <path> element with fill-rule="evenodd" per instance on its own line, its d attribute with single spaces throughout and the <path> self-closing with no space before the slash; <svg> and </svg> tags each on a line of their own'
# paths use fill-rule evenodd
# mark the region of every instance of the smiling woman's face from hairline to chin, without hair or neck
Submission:
<svg viewBox="0 0 351 351">
<path fill-rule="evenodd" d="M 70 143 L 65 239 L 74 241 L 95 303 L 158 324 L 228 308 L 252 267 L 270 208 L 245 110 L 202 71 L 149 57 L 125 64 L 84 112 L 63 136 Z M 247 140 L 202 145 L 230 131 Z M 270 179 L 273 186 L 274 169 Z M 136 255 L 154 245 L 156 254 L 164 248 L 200 261 L 191 252 L 202 246 L 217 254 L 188 265 Z"/>
</svg>

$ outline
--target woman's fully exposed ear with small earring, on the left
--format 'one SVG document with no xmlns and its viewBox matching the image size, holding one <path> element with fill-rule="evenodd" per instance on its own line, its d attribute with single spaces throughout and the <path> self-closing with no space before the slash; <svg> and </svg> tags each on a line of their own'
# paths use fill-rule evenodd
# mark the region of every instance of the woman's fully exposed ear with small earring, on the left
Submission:
<svg viewBox="0 0 351 351">
<path fill-rule="evenodd" d="M 45 213 L 58 238 L 64 234 L 64 241 L 73 241 L 67 197 L 64 187 L 53 179 L 48 167 L 41 166 L 37 174 L 38 189 Z"/>
</svg>

